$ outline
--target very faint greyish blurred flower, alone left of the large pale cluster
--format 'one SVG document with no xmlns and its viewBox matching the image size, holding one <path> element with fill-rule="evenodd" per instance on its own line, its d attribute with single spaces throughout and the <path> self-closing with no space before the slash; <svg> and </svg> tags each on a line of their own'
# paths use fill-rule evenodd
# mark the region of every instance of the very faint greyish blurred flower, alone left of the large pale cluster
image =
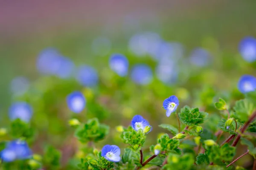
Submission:
<svg viewBox="0 0 256 170">
<path fill-rule="evenodd" d="M 99 56 L 105 56 L 111 50 L 111 41 L 107 37 L 97 37 L 92 43 L 93 53 Z"/>
</svg>

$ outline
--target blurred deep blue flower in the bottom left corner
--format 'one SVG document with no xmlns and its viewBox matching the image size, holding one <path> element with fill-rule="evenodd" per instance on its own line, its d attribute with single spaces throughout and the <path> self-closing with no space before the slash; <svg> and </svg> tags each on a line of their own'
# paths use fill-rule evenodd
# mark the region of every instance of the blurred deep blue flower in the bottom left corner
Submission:
<svg viewBox="0 0 256 170">
<path fill-rule="evenodd" d="M 32 151 L 25 141 L 15 140 L 7 144 L 6 148 L 1 151 L 0 158 L 5 162 L 11 162 L 16 159 L 29 159 Z"/>
</svg>

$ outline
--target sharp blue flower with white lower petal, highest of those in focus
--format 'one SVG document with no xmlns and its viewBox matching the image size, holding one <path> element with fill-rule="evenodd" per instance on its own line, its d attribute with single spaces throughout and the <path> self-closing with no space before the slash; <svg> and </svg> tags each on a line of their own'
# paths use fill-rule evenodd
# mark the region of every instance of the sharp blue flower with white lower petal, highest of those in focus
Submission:
<svg viewBox="0 0 256 170">
<path fill-rule="evenodd" d="M 166 116 L 169 117 L 172 112 L 176 111 L 179 100 L 176 96 L 170 96 L 163 101 L 163 108 L 166 110 Z"/>
</svg>

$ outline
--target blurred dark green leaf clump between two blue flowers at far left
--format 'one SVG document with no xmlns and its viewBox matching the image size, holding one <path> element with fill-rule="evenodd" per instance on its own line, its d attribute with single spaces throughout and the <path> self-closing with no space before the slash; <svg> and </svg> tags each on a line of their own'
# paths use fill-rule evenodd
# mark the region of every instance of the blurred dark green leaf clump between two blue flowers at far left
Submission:
<svg viewBox="0 0 256 170">
<path fill-rule="evenodd" d="M 34 130 L 32 129 L 32 127 L 30 127 L 28 123 L 23 122 L 20 119 L 15 119 L 11 123 L 10 134 L 13 138 L 23 137 L 26 139 L 30 139 L 34 135 Z"/>
</svg>

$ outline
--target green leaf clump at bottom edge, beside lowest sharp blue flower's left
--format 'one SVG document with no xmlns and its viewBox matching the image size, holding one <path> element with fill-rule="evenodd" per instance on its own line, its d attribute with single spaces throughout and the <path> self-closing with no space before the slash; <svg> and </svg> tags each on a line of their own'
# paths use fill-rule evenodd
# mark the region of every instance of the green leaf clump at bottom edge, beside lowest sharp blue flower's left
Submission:
<svg viewBox="0 0 256 170">
<path fill-rule="evenodd" d="M 98 159 L 89 159 L 89 167 L 93 170 L 111 170 L 114 167 L 113 162 L 108 161 L 101 155 L 101 151 L 98 153 Z"/>
</svg>

